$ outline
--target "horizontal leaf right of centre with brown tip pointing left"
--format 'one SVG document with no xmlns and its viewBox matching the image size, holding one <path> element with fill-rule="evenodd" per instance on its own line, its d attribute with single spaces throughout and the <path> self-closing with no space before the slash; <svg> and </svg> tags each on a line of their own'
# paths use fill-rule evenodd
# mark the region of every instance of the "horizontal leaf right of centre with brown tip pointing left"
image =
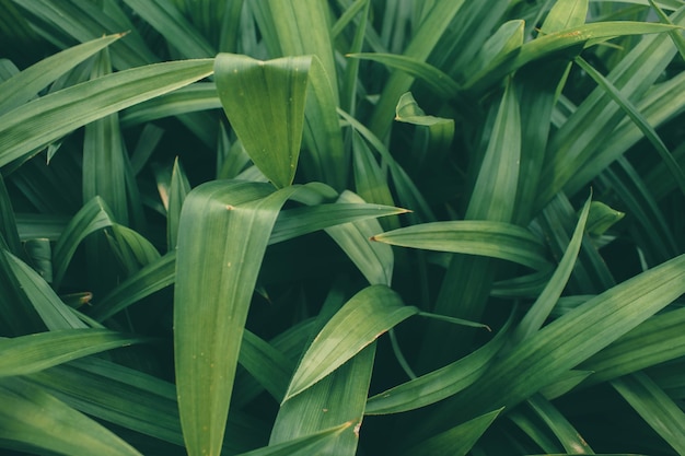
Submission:
<svg viewBox="0 0 685 456">
<path fill-rule="evenodd" d="M 501 258 L 537 270 L 549 269 L 545 248 L 529 230 L 504 222 L 460 220 L 432 222 L 376 234 L 379 241 L 403 247 Z"/>
</svg>

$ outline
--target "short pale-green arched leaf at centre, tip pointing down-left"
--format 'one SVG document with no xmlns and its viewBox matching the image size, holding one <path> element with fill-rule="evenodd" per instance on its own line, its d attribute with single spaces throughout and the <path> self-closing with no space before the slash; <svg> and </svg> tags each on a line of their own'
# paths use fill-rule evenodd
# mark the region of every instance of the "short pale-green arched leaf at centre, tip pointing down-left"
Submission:
<svg viewBox="0 0 685 456">
<path fill-rule="evenodd" d="M 390 328 L 416 315 L 385 285 L 363 289 L 321 330 L 295 371 L 286 400 L 330 374 Z"/>
</svg>

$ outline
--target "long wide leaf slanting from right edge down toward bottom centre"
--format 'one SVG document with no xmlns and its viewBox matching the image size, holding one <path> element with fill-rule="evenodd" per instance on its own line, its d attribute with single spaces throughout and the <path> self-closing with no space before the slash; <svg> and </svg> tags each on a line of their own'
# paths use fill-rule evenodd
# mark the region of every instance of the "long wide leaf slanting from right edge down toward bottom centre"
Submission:
<svg viewBox="0 0 685 456">
<path fill-rule="evenodd" d="M 514 406 L 669 305 L 685 292 L 683 279 L 680 256 L 599 294 L 515 346 L 443 407 L 468 417 L 492 404 Z M 429 419 L 421 428 L 443 425 Z"/>
</svg>

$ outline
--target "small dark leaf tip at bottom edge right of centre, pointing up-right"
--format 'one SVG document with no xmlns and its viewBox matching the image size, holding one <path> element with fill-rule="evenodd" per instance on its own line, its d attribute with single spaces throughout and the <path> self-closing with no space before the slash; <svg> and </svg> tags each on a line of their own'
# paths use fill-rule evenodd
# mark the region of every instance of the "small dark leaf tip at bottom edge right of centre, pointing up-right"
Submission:
<svg viewBox="0 0 685 456">
<path fill-rule="evenodd" d="M 464 456 L 478 442 L 503 408 L 481 414 L 457 426 L 437 434 L 402 453 L 403 455 Z"/>
</svg>

